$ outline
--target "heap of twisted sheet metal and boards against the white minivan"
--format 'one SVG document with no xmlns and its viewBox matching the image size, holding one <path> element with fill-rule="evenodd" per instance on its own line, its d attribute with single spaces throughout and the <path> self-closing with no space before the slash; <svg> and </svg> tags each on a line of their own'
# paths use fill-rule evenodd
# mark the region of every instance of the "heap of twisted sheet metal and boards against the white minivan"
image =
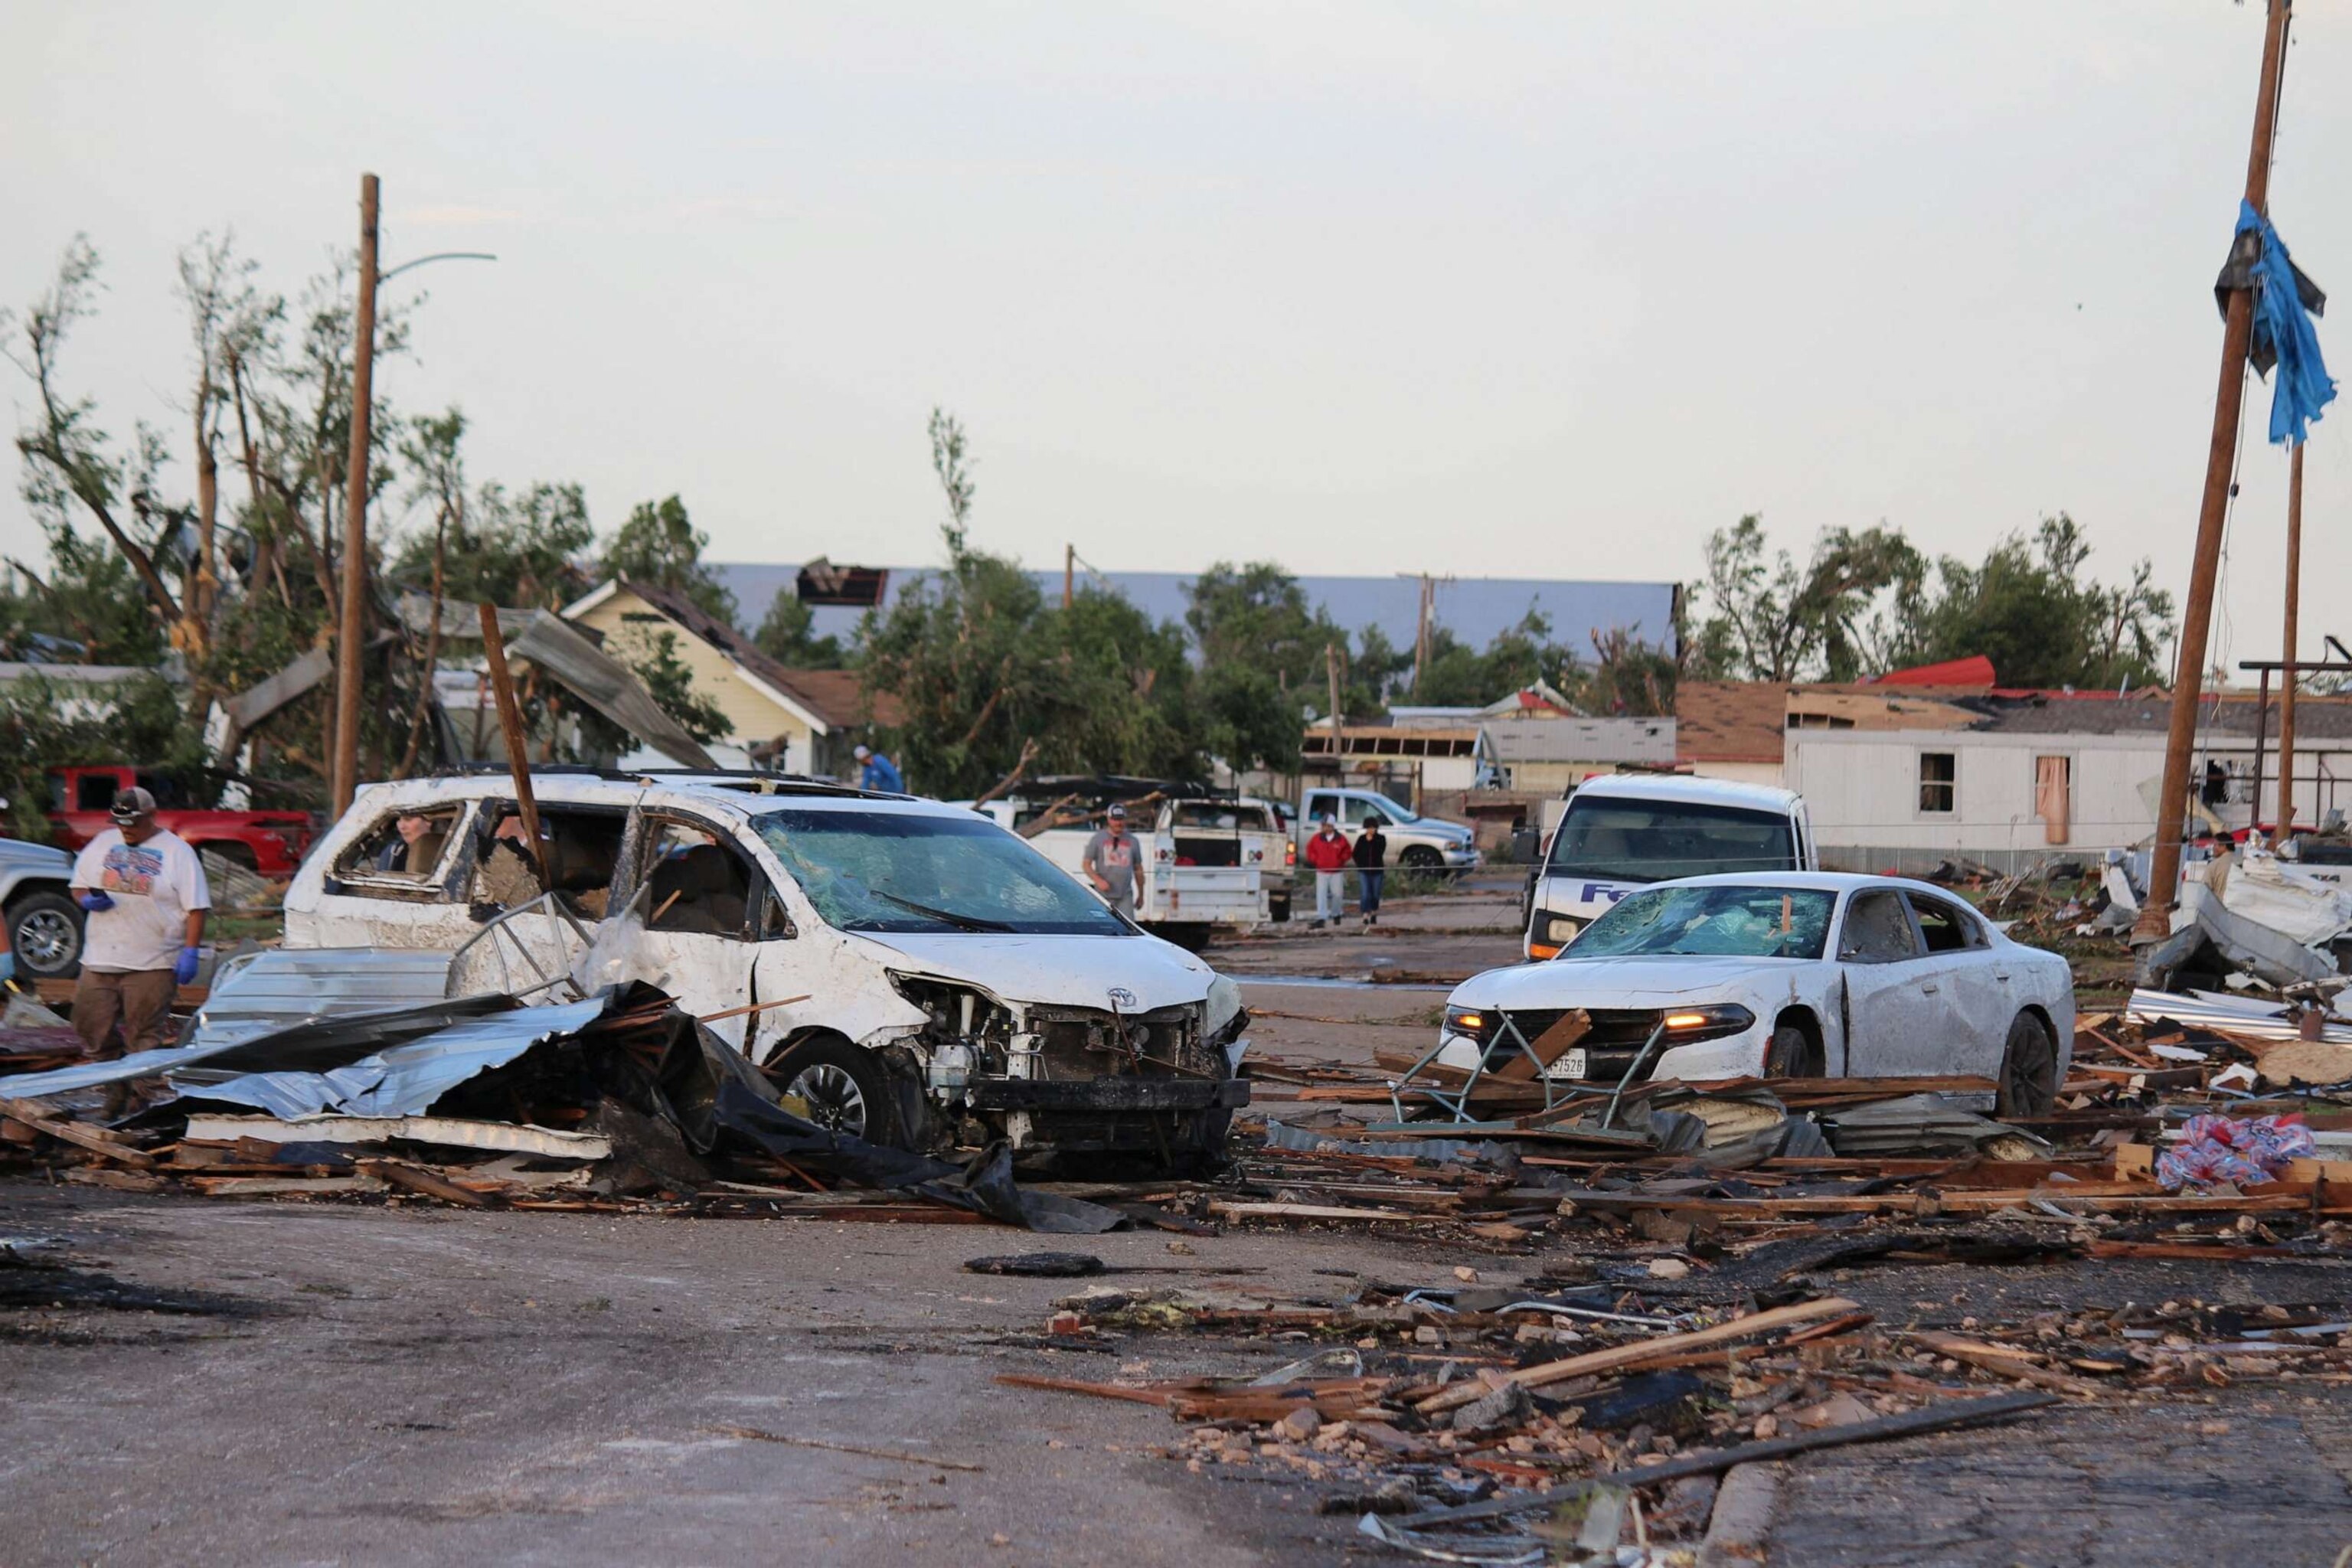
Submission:
<svg viewBox="0 0 2352 1568">
<path fill-rule="evenodd" d="M 45 1056 L 0 1053 L 19 1060 Z M 160 1088 L 118 1126 L 56 1105 L 125 1081 Z M 640 983 L 567 1006 L 468 997 L 0 1077 L 0 1161 L 209 1197 L 407 1194 L 466 1208 L 687 1206 L 1058 1232 L 1127 1220 L 1023 1190 L 1002 1147 L 953 1166 L 833 1133 L 807 1110 Z"/>
</svg>

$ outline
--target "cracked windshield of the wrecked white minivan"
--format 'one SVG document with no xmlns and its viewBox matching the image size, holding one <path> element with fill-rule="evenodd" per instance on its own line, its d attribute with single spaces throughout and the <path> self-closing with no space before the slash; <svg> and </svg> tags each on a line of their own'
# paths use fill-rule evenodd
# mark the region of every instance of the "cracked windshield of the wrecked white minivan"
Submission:
<svg viewBox="0 0 2352 1568">
<path fill-rule="evenodd" d="M 835 931 L 1127 936 L 1094 893 L 978 816 L 767 811 L 760 837 Z"/>
</svg>

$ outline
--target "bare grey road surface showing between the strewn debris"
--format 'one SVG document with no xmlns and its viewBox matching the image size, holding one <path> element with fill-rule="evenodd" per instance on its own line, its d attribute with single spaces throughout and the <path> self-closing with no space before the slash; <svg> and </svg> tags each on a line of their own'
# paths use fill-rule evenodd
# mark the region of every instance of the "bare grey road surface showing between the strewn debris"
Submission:
<svg viewBox="0 0 2352 1568">
<path fill-rule="evenodd" d="M 1242 976 L 1256 1051 L 1425 1044 L 1451 978 L 1512 961 L 1517 884 L 1402 900 L 1374 933 L 1279 931 Z M 1381 959 L 1390 959 L 1381 964 Z M 1402 971 L 1404 983 L 1367 983 Z M 1162 1458 L 1167 1413 L 1007 1389 L 1265 1371 L 1289 1340 L 1044 1347 L 1068 1281 L 962 1272 L 1049 1239 L 981 1225 L 468 1213 L 0 1182 L 0 1239 L 212 1312 L 0 1309 L 0 1563 L 1341 1563 L 1404 1561 L 1317 1490 Z M 1063 1244 L 1065 1246 L 1065 1244 Z M 1294 1298 L 1491 1281 L 1341 1229 L 1087 1239 L 1136 1281 Z M 2124 1300 L 2347 1302 L 2352 1269 L 1898 1265 L 1837 1274 L 1889 1324 Z M 1120 1276 L 1112 1276 L 1120 1281 Z M 2352 1307 L 2340 1307 L 2352 1312 Z M 2333 1563 L 2352 1396 L 2100 1403 L 1797 1460 L 1773 1563 Z M 781 1441 L 797 1439 L 797 1441 Z M 835 1443 L 873 1453 L 804 1446 Z"/>
</svg>

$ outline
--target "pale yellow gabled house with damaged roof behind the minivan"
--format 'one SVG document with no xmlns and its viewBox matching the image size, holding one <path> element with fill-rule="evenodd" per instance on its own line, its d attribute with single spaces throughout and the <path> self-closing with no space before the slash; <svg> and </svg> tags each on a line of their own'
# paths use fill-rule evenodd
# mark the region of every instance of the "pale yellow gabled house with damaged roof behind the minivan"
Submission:
<svg viewBox="0 0 2352 1568">
<path fill-rule="evenodd" d="M 856 670 L 788 670 L 736 628 L 652 583 L 614 578 L 569 604 L 564 621 L 595 632 L 623 661 L 673 632 L 694 691 L 727 715 L 729 733 L 710 750 L 731 748 L 741 757 L 722 762 L 743 764 L 757 750 L 786 773 L 856 778 L 849 748 L 903 717 L 894 696 L 868 698 Z"/>
</svg>

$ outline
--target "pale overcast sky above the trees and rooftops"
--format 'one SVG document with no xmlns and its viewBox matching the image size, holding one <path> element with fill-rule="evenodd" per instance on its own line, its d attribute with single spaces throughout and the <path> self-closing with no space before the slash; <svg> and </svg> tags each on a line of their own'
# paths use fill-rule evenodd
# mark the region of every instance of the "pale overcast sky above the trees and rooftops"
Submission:
<svg viewBox="0 0 2352 1568">
<path fill-rule="evenodd" d="M 1037 567 L 1658 581 L 1743 512 L 1976 557 L 2067 510 L 2180 590 L 2260 42 L 2232 0 L 0 0 L 0 303 L 87 233 L 64 378 L 176 435 L 174 254 L 292 294 L 367 169 L 386 266 L 499 256 L 390 284 L 379 397 L 604 529 L 675 491 L 720 559 L 938 559 L 946 407 L 974 541 Z M 2352 0 L 2305 0 L 2270 212 L 2352 299 L 2345 82 Z M 2279 646 L 2267 407 L 2218 658 Z M 2347 425 L 2305 656 L 2352 639 Z"/>
</svg>

